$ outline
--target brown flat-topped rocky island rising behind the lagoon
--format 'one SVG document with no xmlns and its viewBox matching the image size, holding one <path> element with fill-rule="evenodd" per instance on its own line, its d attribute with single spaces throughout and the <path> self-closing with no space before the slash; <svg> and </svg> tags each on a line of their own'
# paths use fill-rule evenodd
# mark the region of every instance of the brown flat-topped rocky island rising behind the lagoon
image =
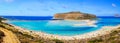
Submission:
<svg viewBox="0 0 120 43">
<path fill-rule="evenodd" d="M 81 13 L 81 12 L 57 13 L 54 15 L 54 19 L 81 20 L 81 19 L 94 19 L 94 18 L 96 18 L 96 16 L 93 14 Z"/>
</svg>

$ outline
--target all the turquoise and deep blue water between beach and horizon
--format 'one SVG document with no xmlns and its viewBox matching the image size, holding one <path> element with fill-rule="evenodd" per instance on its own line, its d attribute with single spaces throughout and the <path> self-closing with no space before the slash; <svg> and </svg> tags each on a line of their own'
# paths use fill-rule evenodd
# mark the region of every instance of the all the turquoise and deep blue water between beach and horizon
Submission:
<svg viewBox="0 0 120 43">
<path fill-rule="evenodd" d="M 74 26 L 73 24 L 84 24 L 79 21 L 52 20 L 52 16 L 3 16 L 9 19 L 10 24 L 32 30 L 42 31 L 48 34 L 73 36 L 99 30 L 103 26 L 116 26 L 120 24 L 119 17 L 101 16 L 96 20 L 97 27 Z M 23 21 L 25 20 L 25 21 Z"/>
</svg>

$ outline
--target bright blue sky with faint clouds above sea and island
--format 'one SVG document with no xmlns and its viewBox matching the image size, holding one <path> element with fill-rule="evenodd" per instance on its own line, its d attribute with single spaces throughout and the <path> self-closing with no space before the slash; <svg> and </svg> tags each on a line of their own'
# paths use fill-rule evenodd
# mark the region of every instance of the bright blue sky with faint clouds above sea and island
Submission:
<svg viewBox="0 0 120 43">
<path fill-rule="evenodd" d="M 120 14 L 120 0 L 0 0 L 0 16 L 53 16 L 71 11 L 113 16 Z"/>
</svg>

